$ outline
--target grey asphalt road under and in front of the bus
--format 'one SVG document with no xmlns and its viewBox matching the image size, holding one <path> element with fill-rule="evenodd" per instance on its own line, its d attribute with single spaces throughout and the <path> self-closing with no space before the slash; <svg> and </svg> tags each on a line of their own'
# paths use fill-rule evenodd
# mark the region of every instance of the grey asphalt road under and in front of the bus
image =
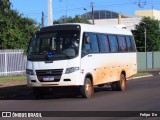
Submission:
<svg viewBox="0 0 160 120">
<path fill-rule="evenodd" d="M 95 88 L 91 99 L 61 93 L 35 100 L 30 89 L 20 91 L 18 96 L 0 100 L 0 111 L 160 111 L 159 75 L 129 80 L 124 92 L 109 86 Z"/>
</svg>

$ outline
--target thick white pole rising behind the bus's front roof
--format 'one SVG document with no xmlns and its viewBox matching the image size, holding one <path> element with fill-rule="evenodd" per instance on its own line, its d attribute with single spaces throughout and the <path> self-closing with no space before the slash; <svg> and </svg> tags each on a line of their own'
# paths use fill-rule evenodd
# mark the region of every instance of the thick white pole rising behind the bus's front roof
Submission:
<svg viewBox="0 0 160 120">
<path fill-rule="evenodd" d="M 53 25 L 52 0 L 48 0 L 48 26 Z"/>
</svg>

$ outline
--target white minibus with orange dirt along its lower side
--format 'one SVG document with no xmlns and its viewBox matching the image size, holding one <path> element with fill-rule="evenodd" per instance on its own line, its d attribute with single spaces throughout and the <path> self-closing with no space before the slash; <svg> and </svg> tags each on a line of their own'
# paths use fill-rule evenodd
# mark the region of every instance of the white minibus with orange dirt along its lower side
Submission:
<svg viewBox="0 0 160 120">
<path fill-rule="evenodd" d="M 131 31 L 116 26 L 66 23 L 41 28 L 30 40 L 27 84 L 36 98 L 44 89 L 77 87 L 85 98 L 94 86 L 124 91 L 137 73 L 136 45 Z M 74 91 L 73 91 L 74 92 Z"/>
</svg>

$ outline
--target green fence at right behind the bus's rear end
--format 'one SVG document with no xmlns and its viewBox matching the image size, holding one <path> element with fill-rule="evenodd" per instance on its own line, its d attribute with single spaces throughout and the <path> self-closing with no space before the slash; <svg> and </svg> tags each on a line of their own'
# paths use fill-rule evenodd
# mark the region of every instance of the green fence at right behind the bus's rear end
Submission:
<svg viewBox="0 0 160 120">
<path fill-rule="evenodd" d="M 160 52 L 138 52 L 138 70 L 160 69 Z"/>
</svg>

